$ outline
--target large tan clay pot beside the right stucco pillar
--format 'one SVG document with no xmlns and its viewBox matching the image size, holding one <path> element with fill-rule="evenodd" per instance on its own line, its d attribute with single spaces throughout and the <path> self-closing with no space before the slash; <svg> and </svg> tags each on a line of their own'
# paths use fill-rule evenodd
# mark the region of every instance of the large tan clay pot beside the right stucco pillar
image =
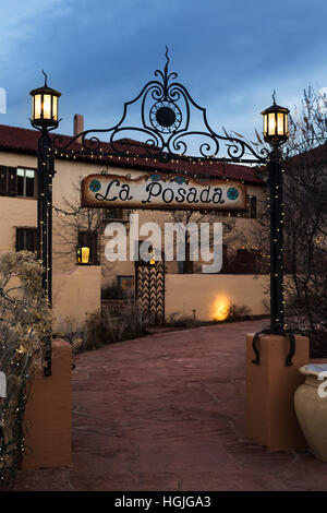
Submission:
<svg viewBox="0 0 327 513">
<path fill-rule="evenodd" d="M 305 382 L 294 395 L 296 417 L 314 455 L 327 462 L 327 365 L 306 365 L 300 372 Z"/>
</svg>

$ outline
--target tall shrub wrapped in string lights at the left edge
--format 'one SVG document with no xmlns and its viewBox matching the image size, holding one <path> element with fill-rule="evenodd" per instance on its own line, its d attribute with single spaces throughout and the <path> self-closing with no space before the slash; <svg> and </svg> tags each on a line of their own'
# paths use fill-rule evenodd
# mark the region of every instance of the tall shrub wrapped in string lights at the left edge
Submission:
<svg viewBox="0 0 327 513">
<path fill-rule="evenodd" d="M 43 366 L 44 341 L 51 335 L 51 311 L 41 287 L 41 262 L 28 251 L 0 258 L 0 370 L 7 394 L 0 397 L 0 477 L 14 477 L 24 450 L 27 387 Z"/>
</svg>

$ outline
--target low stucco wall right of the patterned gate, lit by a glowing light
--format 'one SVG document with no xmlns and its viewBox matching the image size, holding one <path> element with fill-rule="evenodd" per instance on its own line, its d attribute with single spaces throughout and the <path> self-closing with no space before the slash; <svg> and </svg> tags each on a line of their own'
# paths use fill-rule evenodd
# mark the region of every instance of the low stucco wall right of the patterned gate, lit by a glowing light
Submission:
<svg viewBox="0 0 327 513">
<path fill-rule="evenodd" d="M 166 275 L 166 319 L 177 313 L 178 317 L 193 317 L 202 321 L 213 320 L 217 308 L 233 303 L 246 305 L 251 313 L 267 313 L 264 300 L 268 277 L 252 274 L 192 274 Z"/>
</svg>

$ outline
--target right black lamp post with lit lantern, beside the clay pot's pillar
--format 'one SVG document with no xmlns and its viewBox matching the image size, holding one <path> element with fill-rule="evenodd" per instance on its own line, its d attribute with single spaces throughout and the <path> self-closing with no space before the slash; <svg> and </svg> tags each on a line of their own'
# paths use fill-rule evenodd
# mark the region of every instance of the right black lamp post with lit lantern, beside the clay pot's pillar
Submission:
<svg viewBox="0 0 327 513">
<path fill-rule="evenodd" d="M 289 109 L 274 104 L 265 109 L 264 139 L 271 145 L 268 158 L 270 190 L 270 330 L 282 333 L 283 324 L 283 241 L 282 241 L 282 155 L 280 145 L 288 140 Z"/>
</svg>

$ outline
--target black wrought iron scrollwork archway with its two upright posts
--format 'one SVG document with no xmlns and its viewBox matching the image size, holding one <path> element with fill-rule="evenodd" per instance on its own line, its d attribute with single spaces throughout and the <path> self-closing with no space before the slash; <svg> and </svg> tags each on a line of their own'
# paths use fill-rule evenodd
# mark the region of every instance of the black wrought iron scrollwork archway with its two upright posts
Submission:
<svg viewBox="0 0 327 513">
<path fill-rule="evenodd" d="M 284 333 L 283 324 L 283 264 L 282 264 L 282 156 L 279 142 L 272 143 L 269 152 L 263 147 L 254 150 L 246 141 L 229 134 L 216 133 L 207 121 L 206 109 L 191 97 L 189 91 L 180 82 L 175 82 L 177 73 L 170 72 L 168 49 L 166 49 L 166 65 L 164 71 L 156 70 L 157 80 L 148 82 L 141 93 L 131 102 L 126 102 L 121 120 L 107 129 L 86 130 L 73 138 L 61 135 L 50 136 L 48 127 L 40 130 L 38 141 L 38 239 L 39 252 L 44 263 L 44 288 L 51 305 L 51 240 L 52 240 L 52 178 L 55 176 L 55 158 L 61 156 L 87 157 L 126 157 L 142 159 L 158 159 L 161 163 L 178 164 L 179 158 L 210 159 L 211 162 L 231 162 L 268 166 L 268 183 L 270 188 L 270 329 L 269 333 Z M 140 104 L 141 123 L 129 124 L 129 110 Z M 193 110 L 201 112 L 202 127 L 192 127 Z M 58 123 L 57 123 L 58 126 Z M 57 128 L 57 127 L 56 127 Z M 124 135 L 134 133 L 136 140 L 143 136 L 142 145 Z M 99 139 L 107 134 L 107 141 Z M 138 135 L 138 136 L 137 136 Z M 190 157 L 190 139 L 197 144 L 198 157 Z M 76 144 L 82 141 L 82 144 Z M 226 154 L 222 156 L 222 148 Z M 197 172 L 201 175 L 201 172 Z M 254 363 L 259 363 L 259 355 L 254 339 L 254 350 L 257 355 Z M 46 373 L 51 373 L 51 357 L 49 341 L 49 357 Z M 292 341 L 291 341 L 292 346 Z M 291 353 L 293 347 L 291 347 Z M 290 354 L 291 354 L 290 353 Z M 291 365 L 288 358 L 286 365 Z"/>
</svg>

